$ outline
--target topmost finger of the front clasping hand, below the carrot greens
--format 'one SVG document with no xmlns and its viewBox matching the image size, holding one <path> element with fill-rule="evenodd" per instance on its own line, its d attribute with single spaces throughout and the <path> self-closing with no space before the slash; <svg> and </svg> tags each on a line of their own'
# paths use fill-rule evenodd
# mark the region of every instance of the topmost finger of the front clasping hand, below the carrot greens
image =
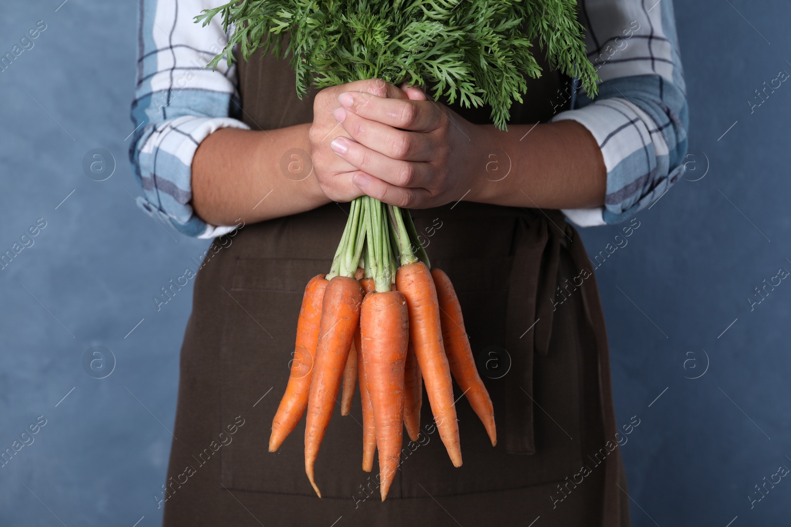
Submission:
<svg viewBox="0 0 791 527">
<path fill-rule="evenodd" d="M 406 96 L 402 90 L 399 91 Z M 440 107 L 427 100 L 385 99 L 360 92 L 343 92 L 338 101 L 348 111 L 365 119 L 384 122 L 402 130 L 428 132 L 439 127 L 445 119 Z"/>
</svg>

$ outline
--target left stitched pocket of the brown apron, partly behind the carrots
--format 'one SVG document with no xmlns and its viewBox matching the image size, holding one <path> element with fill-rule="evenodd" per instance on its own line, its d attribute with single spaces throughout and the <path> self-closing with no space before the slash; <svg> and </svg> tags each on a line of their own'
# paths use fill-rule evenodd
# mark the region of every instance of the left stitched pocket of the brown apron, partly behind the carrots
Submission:
<svg viewBox="0 0 791 527">
<path fill-rule="evenodd" d="M 225 487 L 316 496 L 305 476 L 305 416 L 277 452 L 267 446 L 289 380 L 305 285 L 330 264 L 298 258 L 236 262 L 229 290 L 236 302 L 230 303 L 221 344 L 221 414 L 223 423 L 240 414 L 249 418 L 244 435 L 221 449 Z M 336 405 L 327 427 L 316 461 L 316 484 L 326 498 L 349 499 L 368 477 L 361 469 L 360 408 L 359 395 L 349 416 L 341 416 Z"/>
</svg>

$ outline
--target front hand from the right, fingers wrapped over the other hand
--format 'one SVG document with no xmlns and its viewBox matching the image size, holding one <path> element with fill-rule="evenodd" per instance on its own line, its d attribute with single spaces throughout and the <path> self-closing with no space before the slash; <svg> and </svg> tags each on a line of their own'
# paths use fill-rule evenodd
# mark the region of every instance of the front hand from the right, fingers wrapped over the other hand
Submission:
<svg viewBox="0 0 791 527">
<path fill-rule="evenodd" d="M 418 88 L 403 92 L 408 100 L 335 92 L 335 119 L 348 137 L 334 137 L 331 149 L 343 160 L 344 183 L 353 185 L 344 190 L 410 209 L 460 200 L 476 186 L 475 167 L 485 173 L 476 126 Z"/>
</svg>

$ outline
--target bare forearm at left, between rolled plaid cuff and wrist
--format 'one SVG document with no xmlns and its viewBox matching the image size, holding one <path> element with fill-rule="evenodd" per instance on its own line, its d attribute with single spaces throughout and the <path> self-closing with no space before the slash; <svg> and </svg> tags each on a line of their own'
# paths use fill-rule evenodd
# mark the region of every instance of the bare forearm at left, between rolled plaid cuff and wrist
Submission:
<svg viewBox="0 0 791 527">
<path fill-rule="evenodd" d="M 311 171 L 309 127 L 225 128 L 206 137 L 192 160 L 195 213 L 214 225 L 249 224 L 328 203 Z"/>
</svg>

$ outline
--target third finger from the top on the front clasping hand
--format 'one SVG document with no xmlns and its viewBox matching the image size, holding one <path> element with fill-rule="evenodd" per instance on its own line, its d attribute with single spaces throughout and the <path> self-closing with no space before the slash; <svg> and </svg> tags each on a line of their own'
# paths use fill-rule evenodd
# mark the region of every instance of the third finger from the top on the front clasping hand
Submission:
<svg viewBox="0 0 791 527">
<path fill-rule="evenodd" d="M 393 160 L 346 137 L 337 137 L 330 147 L 354 167 L 395 186 L 420 188 L 427 186 L 430 178 L 428 163 Z"/>
</svg>

